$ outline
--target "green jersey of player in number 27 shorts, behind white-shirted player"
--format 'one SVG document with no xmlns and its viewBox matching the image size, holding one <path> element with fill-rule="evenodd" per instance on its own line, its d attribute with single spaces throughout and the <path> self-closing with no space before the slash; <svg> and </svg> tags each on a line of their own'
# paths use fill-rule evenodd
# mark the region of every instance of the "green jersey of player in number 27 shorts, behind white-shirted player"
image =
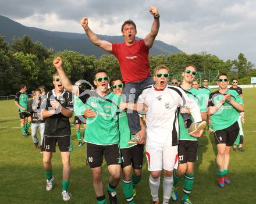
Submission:
<svg viewBox="0 0 256 204">
<path fill-rule="evenodd" d="M 204 98 L 202 97 L 202 92 L 200 90 L 196 90 L 195 88 L 189 88 L 188 90 L 184 90 L 186 94 L 194 99 L 197 102 L 197 105 L 200 107 L 201 112 L 205 112 L 207 110 L 207 105 L 204 102 Z M 193 118 L 191 117 L 193 120 Z M 193 137 L 189 135 L 189 130 L 184 126 L 184 120 L 182 115 L 179 113 L 179 139 L 180 140 L 194 140 L 197 141 L 198 137 Z"/>
</svg>

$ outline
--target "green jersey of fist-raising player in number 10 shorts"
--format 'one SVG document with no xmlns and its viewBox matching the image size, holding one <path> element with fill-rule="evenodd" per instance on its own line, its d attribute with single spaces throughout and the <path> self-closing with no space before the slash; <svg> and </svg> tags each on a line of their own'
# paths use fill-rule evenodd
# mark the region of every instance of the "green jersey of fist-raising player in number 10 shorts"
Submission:
<svg viewBox="0 0 256 204">
<path fill-rule="evenodd" d="M 121 101 L 122 98 L 112 92 L 100 96 L 94 91 L 87 99 L 85 109 L 93 109 L 96 116 L 86 119 L 86 142 L 97 145 L 119 143 L 118 109 Z"/>
</svg>

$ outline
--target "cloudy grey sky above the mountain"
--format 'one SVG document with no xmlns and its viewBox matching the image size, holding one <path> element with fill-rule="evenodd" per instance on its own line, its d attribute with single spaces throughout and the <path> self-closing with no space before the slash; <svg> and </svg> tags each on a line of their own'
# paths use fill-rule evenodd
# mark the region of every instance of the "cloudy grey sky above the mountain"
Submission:
<svg viewBox="0 0 256 204">
<path fill-rule="evenodd" d="M 137 36 L 150 31 L 148 9 L 157 6 L 161 28 L 157 40 L 182 51 L 206 51 L 221 59 L 237 59 L 240 52 L 256 65 L 256 1 L 244 0 L 0 0 L 0 15 L 24 26 L 83 33 L 79 21 L 89 18 L 97 34 L 120 35 L 127 19 L 137 24 Z"/>
</svg>

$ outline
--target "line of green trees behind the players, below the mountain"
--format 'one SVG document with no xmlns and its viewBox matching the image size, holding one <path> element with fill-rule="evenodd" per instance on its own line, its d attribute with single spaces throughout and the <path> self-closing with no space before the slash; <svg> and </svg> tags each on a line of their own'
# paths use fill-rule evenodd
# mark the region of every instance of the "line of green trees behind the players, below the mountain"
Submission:
<svg viewBox="0 0 256 204">
<path fill-rule="evenodd" d="M 0 95 L 13 95 L 20 84 L 26 84 L 28 92 L 40 85 L 52 88 L 52 61 L 61 56 L 63 67 L 72 83 L 84 79 L 93 83 L 97 69 L 105 69 L 110 77 L 121 77 L 118 60 L 113 55 L 86 56 L 74 51 L 55 52 L 40 42 L 33 42 L 29 36 L 13 38 L 12 44 L 0 36 Z M 170 53 L 168 56 L 149 56 L 151 73 L 158 65 L 166 65 L 172 73 L 182 72 L 187 65 L 194 65 L 198 71 L 226 72 L 229 78 L 239 78 L 240 84 L 250 84 L 250 77 L 256 76 L 254 65 L 243 53 L 237 59 L 222 60 L 206 52 L 188 55 L 185 52 Z"/>
</svg>

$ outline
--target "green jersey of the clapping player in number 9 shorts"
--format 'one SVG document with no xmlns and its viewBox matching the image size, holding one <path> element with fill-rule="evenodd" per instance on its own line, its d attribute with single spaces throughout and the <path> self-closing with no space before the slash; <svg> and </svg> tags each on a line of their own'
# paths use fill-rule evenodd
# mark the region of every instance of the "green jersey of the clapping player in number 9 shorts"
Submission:
<svg viewBox="0 0 256 204">
<path fill-rule="evenodd" d="M 243 99 L 241 99 L 241 96 L 236 91 L 227 90 L 224 94 L 221 94 L 221 92 L 218 90 L 212 92 L 209 96 L 208 107 L 219 103 L 223 99 L 223 96 L 226 94 L 230 94 L 233 101 L 244 104 Z M 238 117 L 239 111 L 234 108 L 228 101 L 225 101 L 219 110 L 217 110 L 214 114 L 211 114 L 212 127 L 214 127 L 215 131 L 223 130 L 229 126 L 232 126 L 232 124 L 237 121 Z"/>
</svg>

